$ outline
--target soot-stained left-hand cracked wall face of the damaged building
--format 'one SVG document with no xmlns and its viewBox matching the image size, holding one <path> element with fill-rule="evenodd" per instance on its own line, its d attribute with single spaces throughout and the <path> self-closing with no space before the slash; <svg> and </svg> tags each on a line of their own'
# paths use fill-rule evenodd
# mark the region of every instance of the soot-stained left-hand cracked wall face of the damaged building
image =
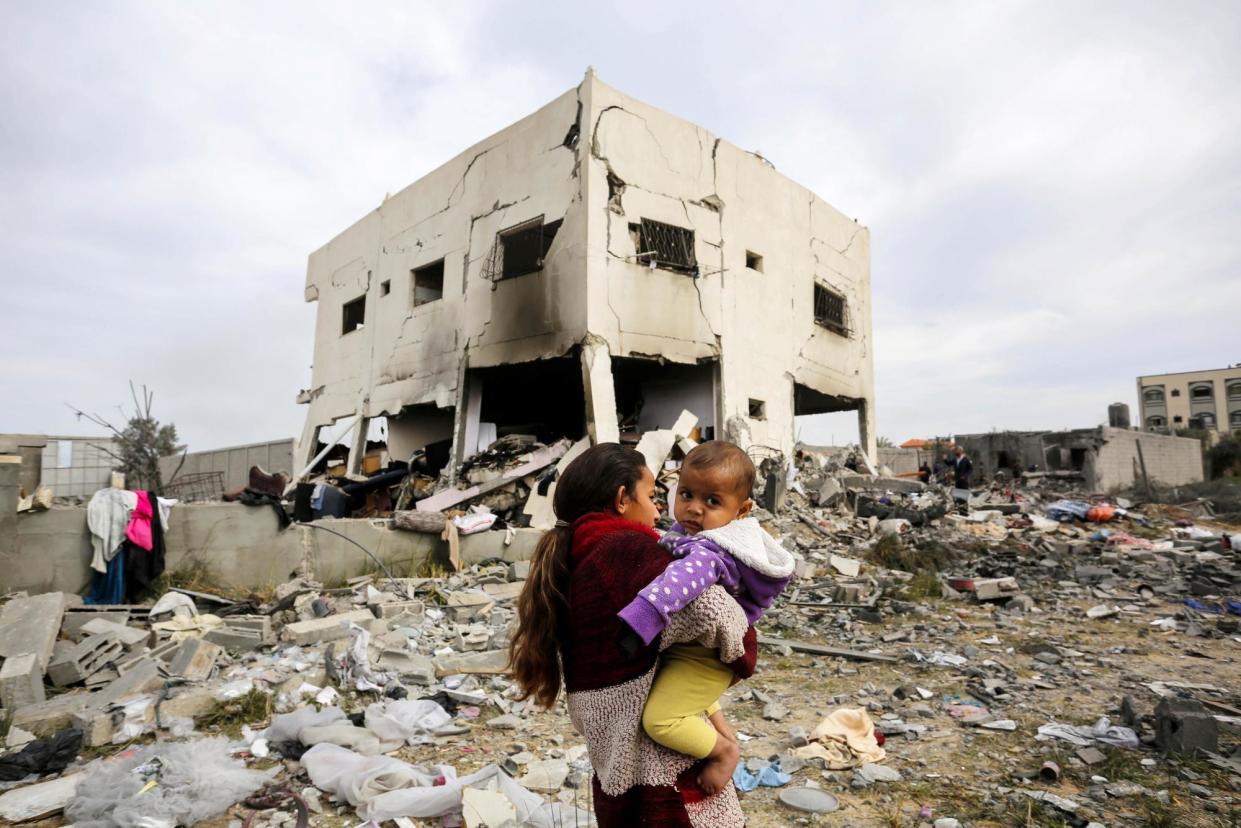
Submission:
<svg viewBox="0 0 1241 828">
<path fill-rule="evenodd" d="M 470 367 L 556 356 L 586 331 L 580 210 L 578 89 L 491 135 L 391 195 L 310 254 L 305 299 L 318 302 L 307 430 L 361 412 L 455 405 Z M 563 220 L 544 269 L 484 277 L 496 232 Z M 443 298 L 413 304 L 414 268 L 444 262 Z M 387 293 L 383 286 L 387 283 Z M 365 325 L 343 334 L 343 305 L 365 297 Z"/>
</svg>

